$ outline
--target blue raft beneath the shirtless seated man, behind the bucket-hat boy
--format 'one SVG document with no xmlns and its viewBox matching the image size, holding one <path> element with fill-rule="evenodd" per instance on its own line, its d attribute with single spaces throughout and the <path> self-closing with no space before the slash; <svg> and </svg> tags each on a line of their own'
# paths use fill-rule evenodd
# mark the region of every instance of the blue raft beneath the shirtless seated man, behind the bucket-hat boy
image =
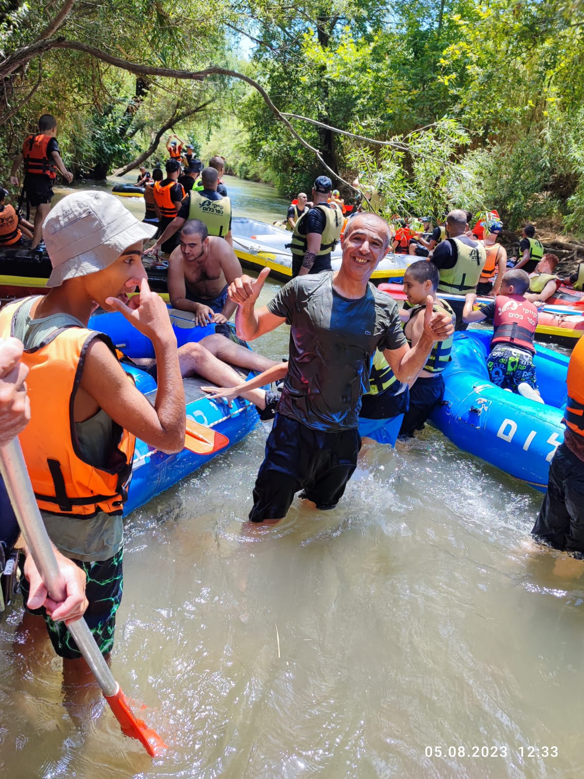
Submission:
<svg viewBox="0 0 584 779">
<path fill-rule="evenodd" d="M 189 341 L 199 341 L 206 335 L 215 332 L 214 325 L 206 327 L 195 326 L 184 312 L 171 310 L 171 321 L 174 333 L 177 335 L 178 345 Z M 142 336 L 138 330 L 118 313 L 97 314 L 90 319 L 90 328 L 105 333 L 114 345 L 130 358 L 147 358 L 154 356 L 152 342 Z M 146 371 L 142 371 L 132 365 L 124 365 L 128 373 L 132 373 L 136 386 L 140 392 L 152 400 L 156 396 L 157 384 L 153 377 Z M 206 425 L 216 432 L 226 435 L 229 446 L 245 438 L 258 422 L 258 412 L 255 406 L 246 400 L 237 398 L 231 407 L 221 401 L 209 400 L 202 392 L 202 384 L 212 382 L 195 379 L 183 379 L 185 386 L 187 418 Z M 221 449 L 221 451 L 226 451 Z M 164 454 L 148 446 L 143 441 L 137 440 L 134 454 L 134 467 L 132 482 L 128 491 L 128 501 L 124 507 L 124 513 L 128 514 L 155 495 L 164 492 L 175 485 L 182 478 L 192 474 L 202 465 L 212 460 L 216 453 L 200 455 L 183 449 L 178 454 Z"/>
</svg>

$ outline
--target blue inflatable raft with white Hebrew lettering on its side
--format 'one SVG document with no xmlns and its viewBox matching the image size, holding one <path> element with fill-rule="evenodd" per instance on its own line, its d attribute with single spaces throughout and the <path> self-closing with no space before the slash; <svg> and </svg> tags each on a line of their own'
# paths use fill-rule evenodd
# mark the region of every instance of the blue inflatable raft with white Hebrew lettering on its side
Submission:
<svg viewBox="0 0 584 779">
<path fill-rule="evenodd" d="M 555 450 L 564 440 L 568 357 L 537 347 L 534 365 L 545 404 L 501 390 L 489 380 L 492 330 L 455 333 L 444 371 L 445 396 L 433 424 L 459 449 L 545 492 Z"/>
</svg>

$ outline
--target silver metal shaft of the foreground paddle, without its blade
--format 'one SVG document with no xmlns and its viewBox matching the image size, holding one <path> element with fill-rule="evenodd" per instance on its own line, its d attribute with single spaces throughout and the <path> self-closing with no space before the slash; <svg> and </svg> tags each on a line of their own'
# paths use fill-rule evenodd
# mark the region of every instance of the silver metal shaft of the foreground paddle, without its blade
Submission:
<svg viewBox="0 0 584 779">
<path fill-rule="evenodd" d="M 0 471 L 2 471 L 2 478 L 24 541 L 30 554 L 33 555 L 33 560 L 47 591 L 54 601 L 63 601 L 65 600 L 65 583 L 59 573 L 55 552 L 40 516 L 37 499 L 34 497 L 28 471 L 26 471 L 23 450 L 20 448 L 17 438 L 5 446 L 0 446 Z M 101 689 L 103 689 L 104 695 L 115 695 L 118 692 L 118 682 L 115 681 L 108 668 L 85 619 L 72 622 L 68 629 Z"/>
</svg>

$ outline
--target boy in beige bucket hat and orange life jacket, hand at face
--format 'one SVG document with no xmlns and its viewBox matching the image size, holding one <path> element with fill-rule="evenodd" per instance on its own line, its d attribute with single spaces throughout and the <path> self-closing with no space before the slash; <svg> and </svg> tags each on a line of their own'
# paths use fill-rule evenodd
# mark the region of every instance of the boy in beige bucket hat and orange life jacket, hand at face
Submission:
<svg viewBox="0 0 584 779">
<path fill-rule="evenodd" d="M 20 441 L 33 489 L 51 540 L 86 572 L 86 620 L 103 654 L 113 646 L 121 601 L 121 512 L 135 436 L 167 453 L 185 442 L 177 341 L 142 266 L 143 241 L 155 230 L 105 192 L 65 197 L 43 224 L 53 267 L 48 294 L 0 312 L 0 337 L 23 341 L 29 368 L 31 421 Z M 121 312 L 152 340 L 154 406 L 128 380 L 109 338 L 87 329 L 97 305 Z M 65 626 L 45 621 L 65 674 L 82 677 L 85 664 Z"/>
</svg>

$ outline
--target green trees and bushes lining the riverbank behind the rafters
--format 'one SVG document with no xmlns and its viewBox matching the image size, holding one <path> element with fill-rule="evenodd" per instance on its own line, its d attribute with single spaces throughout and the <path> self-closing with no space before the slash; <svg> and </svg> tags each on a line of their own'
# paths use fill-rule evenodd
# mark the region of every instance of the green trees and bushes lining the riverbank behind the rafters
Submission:
<svg viewBox="0 0 584 779">
<path fill-rule="evenodd" d="M 3 178 L 48 111 L 78 175 L 177 132 L 289 196 L 328 169 L 387 213 L 496 206 L 582 236 L 583 30 L 582 0 L 2 2 Z"/>
</svg>

